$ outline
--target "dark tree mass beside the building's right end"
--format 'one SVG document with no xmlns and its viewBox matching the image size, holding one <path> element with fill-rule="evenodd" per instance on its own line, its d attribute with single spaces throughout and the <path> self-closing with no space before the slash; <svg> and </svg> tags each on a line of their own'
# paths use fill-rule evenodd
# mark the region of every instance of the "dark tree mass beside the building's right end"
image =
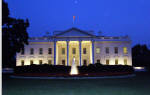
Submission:
<svg viewBox="0 0 150 95">
<path fill-rule="evenodd" d="M 132 48 L 133 66 L 146 66 L 150 68 L 150 50 L 146 45 L 135 45 Z"/>
</svg>

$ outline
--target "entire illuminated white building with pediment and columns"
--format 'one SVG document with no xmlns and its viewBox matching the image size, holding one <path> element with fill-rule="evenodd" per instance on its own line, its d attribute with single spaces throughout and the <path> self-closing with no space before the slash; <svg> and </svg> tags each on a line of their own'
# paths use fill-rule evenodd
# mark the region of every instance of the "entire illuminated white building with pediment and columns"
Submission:
<svg viewBox="0 0 150 95">
<path fill-rule="evenodd" d="M 56 31 L 52 36 L 32 37 L 24 51 L 17 53 L 16 65 L 52 64 L 77 66 L 101 63 L 132 65 L 131 40 L 125 37 L 96 36 L 77 28 Z"/>
</svg>

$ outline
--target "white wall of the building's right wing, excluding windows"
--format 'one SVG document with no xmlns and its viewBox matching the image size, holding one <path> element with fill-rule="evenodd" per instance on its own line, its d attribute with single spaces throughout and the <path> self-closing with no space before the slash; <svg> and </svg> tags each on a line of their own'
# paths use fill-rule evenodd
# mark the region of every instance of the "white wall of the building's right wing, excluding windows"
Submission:
<svg viewBox="0 0 150 95">
<path fill-rule="evenodd" d="M 127 65 L 132 65 L 131 46 L 130 42 L 123 41 L 97 41 L 95 45 L 95 63 L 99 59 L 102 64 L 106 64 L 106 59 L 109 59 L 110 65 L 115 65 L 115 59 L 118 59 L 118 64 L 124 65 L 124 59 L 127 59 Z M 106 54 L 106 47 L 109 47 L 109 54 Z M 114 47 L 118 47 L 118 54 L 114 53 Z M 123 53 L 123 47 L 127 47 L 127 54 Z M 100 48 L 100 54 L 96 53 L 96 48 Z"/>
</svg>

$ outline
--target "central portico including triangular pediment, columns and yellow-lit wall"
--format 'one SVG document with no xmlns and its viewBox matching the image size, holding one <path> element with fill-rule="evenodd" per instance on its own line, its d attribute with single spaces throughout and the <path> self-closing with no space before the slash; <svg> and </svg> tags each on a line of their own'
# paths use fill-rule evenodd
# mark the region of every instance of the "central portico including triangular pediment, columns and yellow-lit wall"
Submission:
<svg viewBox="0 0 150 95">
<path fill-rule="evenodd" d="M 70 66 L 73 57 L 77 66 L 94 63 L 94 37 L 96 36 L 77 28 L 54 35 L 54 64 Z"/>
</svg>

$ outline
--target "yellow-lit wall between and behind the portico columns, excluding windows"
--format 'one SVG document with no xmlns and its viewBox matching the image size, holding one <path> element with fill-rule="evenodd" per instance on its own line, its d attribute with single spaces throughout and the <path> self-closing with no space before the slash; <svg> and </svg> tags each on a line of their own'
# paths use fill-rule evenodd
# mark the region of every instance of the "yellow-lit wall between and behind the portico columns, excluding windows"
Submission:
<svg viewBox="0 0 150 95">
<path fill-rule="evenodd" d="M 84 63 L 84 60 L 86 60 L 86 64 L 91 64 L 92 63 L 92 48 L 91 48 L 91 41 L 82 41 L 81 43 L 81 62 L 82 65 Z M 66 41 L 58 41 L 57 45 L 57 61 L 56 64 L 62 65 L 62 60 L 65 60 L 65 65 L 67 65 L 67 42 Z M 65 54 L 62 54 L 62 48 L 65 49 Z M 72 49 L 76 49 L 76 54 L 72 53 Z M 86 48 L 86 54 L 83 54 L 83 48 Z M 69 65 L 71 66 L 73 57 L 75 57 L 75 62 L 77 66 L 80 66 L 80 55 L 79 55 L 79 41 L 70 41 L 69 42 Z"/>
</svg>

